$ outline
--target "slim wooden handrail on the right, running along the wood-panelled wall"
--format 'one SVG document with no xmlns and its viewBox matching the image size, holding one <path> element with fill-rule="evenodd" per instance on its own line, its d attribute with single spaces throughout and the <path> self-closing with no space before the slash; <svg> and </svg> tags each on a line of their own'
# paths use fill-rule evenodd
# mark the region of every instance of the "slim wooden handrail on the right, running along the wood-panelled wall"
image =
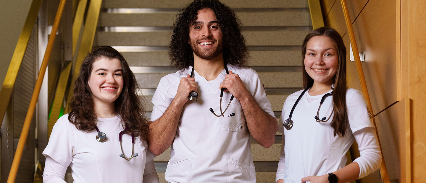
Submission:
<svg viewBox="0 0 426 183">
<path fill-rule="evenodd" d="M 371 112 L 371 118 L 374 124 L 374 128 L 376 129 L 377 140 L 379 141 L 380 152 L 382 154 L 382 164 L 380 165 L 380 175 L 382 177 L 383 183 L 390 183 L 388 170 L 386 169 L 385 158 L 383 157 L 382 145 L 379 140 L 379 133 L 377 132 L 376 121 L 374 120 L 374 113 L 371 107 L 370 96 L 368 95 L 366 78 L 364 77 L 363 66 L 361 65 L 361 60 L 358 52 L 357 41 L 355 40 L 354 28 L 352 28 L 351 17 L 349 17 L 348 6 L 346 4 L 346 0 L 340 0 L 342 3 L 343 13 L 345 14 L 346 27 L 348 28 L 349 39 L 351 40 L 351 47 L 354 53 L 355 64 L 357 65 L 358 77 L 360 78 L 361 90 L 363 91 L 364 97 L 367 100 L 367 104 L 369 107 L 369 112 Z"/>
</svg>

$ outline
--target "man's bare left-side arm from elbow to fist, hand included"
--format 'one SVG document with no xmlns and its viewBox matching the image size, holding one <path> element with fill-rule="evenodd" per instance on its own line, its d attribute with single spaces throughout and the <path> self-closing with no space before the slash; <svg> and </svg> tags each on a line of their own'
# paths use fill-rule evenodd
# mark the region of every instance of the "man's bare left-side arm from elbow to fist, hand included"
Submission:
<svg viewBox="0 0 426 183">
<path fill-rule="evenodd" d="M 191 91 L 197 91 L 197 83 L 187 75 L 181 79 L 176 96 L 163 115 L 155 121 L 150 121 L 147 141 L 148 148 L 154 155 L 160 155 L 172 144 L 182 109 Z"/>
</svg>

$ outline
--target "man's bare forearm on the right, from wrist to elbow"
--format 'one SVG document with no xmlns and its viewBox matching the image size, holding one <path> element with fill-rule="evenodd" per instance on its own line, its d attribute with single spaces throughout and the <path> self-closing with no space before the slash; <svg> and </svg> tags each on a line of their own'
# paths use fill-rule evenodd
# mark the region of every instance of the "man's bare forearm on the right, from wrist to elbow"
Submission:
<svg viewBox="0 0 426 183">
<path fill-rule="evenodd" d="M 276 119 L 263 111 L 251 95 L 240 99 L 240 102 L 250 135 L 261 146 L 272 146 L 275 142 L 275 132 L 278 130 Z"/>
</svg>

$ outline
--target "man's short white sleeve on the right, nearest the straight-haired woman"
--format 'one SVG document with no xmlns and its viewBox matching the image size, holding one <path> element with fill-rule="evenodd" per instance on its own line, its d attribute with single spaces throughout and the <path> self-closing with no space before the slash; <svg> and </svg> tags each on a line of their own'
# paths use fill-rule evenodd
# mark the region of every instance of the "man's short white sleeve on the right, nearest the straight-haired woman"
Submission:
<svg viewBox="0 0 426 183">
<path fill-rule="evenodd" d="M 253 70 L 254 72 L 254 70 Z M 253 98 L 257 101 L 260 108 L 264 110 L 269 115 L 273 116 L 275 118 L 275 114 L 272 111 L 271 102 L 269 102 L 268 98 L 266 97 L 266 90 L 265 87 L 263 87 L 263 83 L 259 79 L 259 75 L 256 73 L 255 77 L 253 78 Z"/>
</svg>

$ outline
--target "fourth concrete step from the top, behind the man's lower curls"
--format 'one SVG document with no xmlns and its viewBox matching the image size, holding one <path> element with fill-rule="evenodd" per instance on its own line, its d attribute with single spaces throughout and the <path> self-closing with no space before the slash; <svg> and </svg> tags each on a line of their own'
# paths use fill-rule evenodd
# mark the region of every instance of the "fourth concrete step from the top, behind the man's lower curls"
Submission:
<svg viewBox="0 0 426 183">
<path fill-rule="evenodd" d="M 121 52 L 130 66 L 170 66 L 167 51 Z M 249 51 L 250 66 L 300 66 L 301 51 Z"/>
</svg>

